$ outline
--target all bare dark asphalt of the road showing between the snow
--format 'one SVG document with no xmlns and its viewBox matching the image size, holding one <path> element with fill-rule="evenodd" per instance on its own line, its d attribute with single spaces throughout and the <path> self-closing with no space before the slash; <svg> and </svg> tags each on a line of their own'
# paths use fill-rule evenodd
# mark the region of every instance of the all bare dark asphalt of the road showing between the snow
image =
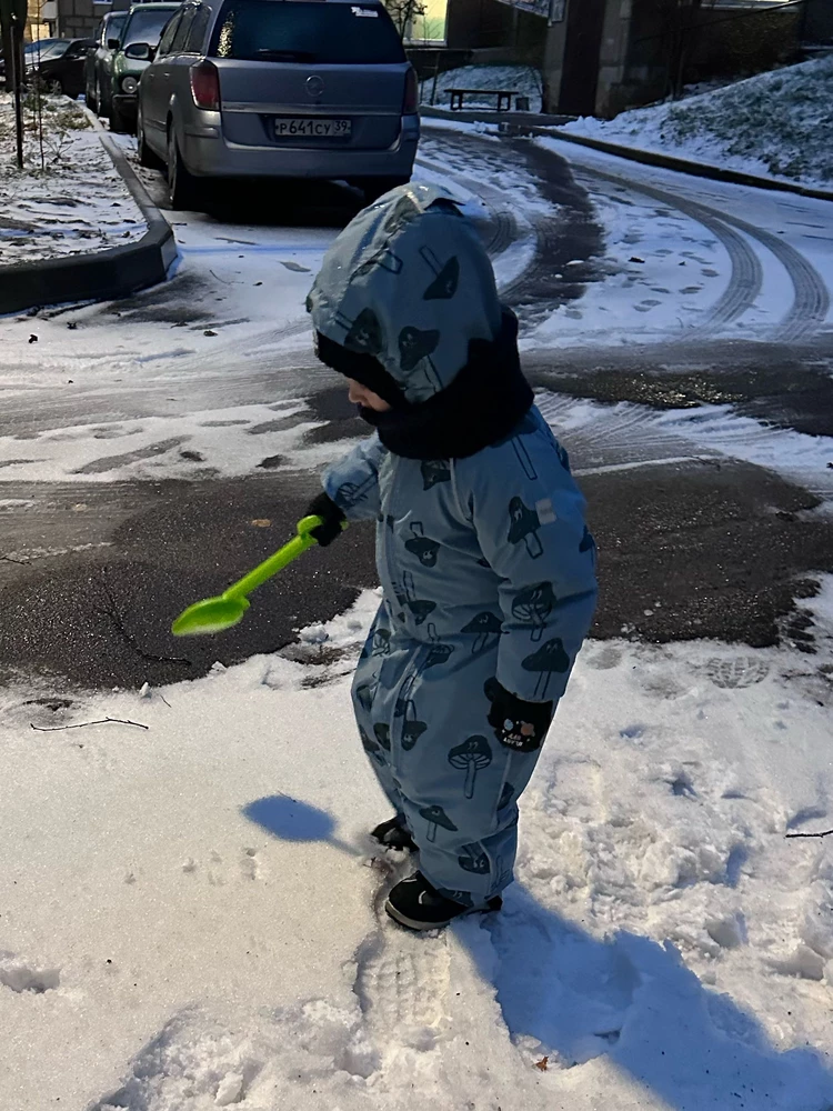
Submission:
<svg viewBox="0 0 833 1111">
<path fill-rule="evenodd" d="M 435 140 L 443 141 L 448 154 L 464 159 L 468 140 Z M 522 167 L 558 206 L 558 217 L 536 218 L 531 262 L 509 291 L 522 321 L 534 322 L 554 304 L 580 301 L 600 278 L 593 271 L 600 228 L 584 179 L 562 160 L 524 143 L 498 152 L 494 143 L 481 146 L 508 172 Z M 343 224 L 354 209 L 350 194 L 327 193 L 309 209 L 295 206 L 292 222 L 318 234 Z M 214 221 L 224 232 L 223 219 L 210 214 L 202 227 Z M 251 213 L 248 219 L 251 224 Z M 262 210 L 259 219 L 272 230 L 279 223 Z M 233 222 L 228 228 L 234 233 Z M 518 234 L 494 198 L 483 233 L 498 254 Z M 570 282 L 553 277 L 566 256 L 581 263 Z M 100 307 L 96 327 L 114 338 L 126 320 L 203 328 L 210 322 L 204 292 L 184 273 L 130 302 Z M 814 296 L 817 301 L 817 289 Z M 305 322 L 292 327 L 301 334 Z M 305 397 L 323 422 L 308 436 L 310 448 L 362 434 L 343 390 L 308 353 L 269 352 L 215 386 L 207 364 L 201 404 Z M 756 343 L 534 350 L 525 366 L 536 386 L 566 397 L 650 409 L 721 402 L 779 427 L 833 434 L 832 359 L 831 334 L 805 330 Z M 129 388 L 111 383 L 71 394 L 9 391 L 0 431 L 19 437 L 26 451 L 26 440 L 44 429 L 170 416 L 187 407 L 188 393 L 173 397 L 174 371 L 167 374 L 162 368 Z M 610 443 L 592 430 L 568 437 L 600 544 L 593 634 L 656 642 L 707 637 L 753 647 L 786 639 L 812 652 L 812 625 L 794 603 L 814 591 L 815 572 L 833 571 L 833 517 L 813 512 L 819 497 L 760 467 L 676 442 L 659 458 L 654 443 L 648 459 L 639 428 L 629 436 Z M 327 620 L 375 584 L 372 528 L 355 527 L 328 551 L 308 553 L 258 592 L 233 631 L 175 640 L 168 630 L 184 605 L 219 592 L 282 543 L 317 489 L 312 469 L 94 484 L 0 477 L 0 680 L 40 674 L 50 690 L 159 684 L 195 678 L 214 661 L 231 664 L 285 648 L 299 627 Z"/>
</svg>

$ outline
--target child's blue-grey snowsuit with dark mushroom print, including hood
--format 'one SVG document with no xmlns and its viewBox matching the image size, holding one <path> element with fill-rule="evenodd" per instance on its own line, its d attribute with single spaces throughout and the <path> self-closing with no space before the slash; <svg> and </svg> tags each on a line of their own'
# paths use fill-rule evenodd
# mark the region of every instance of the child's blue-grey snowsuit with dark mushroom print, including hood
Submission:
<svg viewBox="0 0 833 1111">
<path fill-rule="evenodd" d="M 420 408 L 442 403 L 466 364 L 472 377 L 472 339 L 501 333 L 476 233 L 421 186 L 350 224 L 309 307 L 320 333 L 375 357 Z M 481 403 L 473 391 L 461 443 L 476 436 Z M 464 458 L 445 441 L 442 458 L 408 458 L 378 432 L 327 471 L 324 489 L 350 520 L 378 521 L 383 601 L 353 684 L 362 743 L 422 873 L 471 905 L 512 880 L 518 798 L 540 751 L 495 739 L 484 688 L 496 678 L 526 701 L 562 695 L 593 614 L 595 546 L 566 453 L 534 406 Z"/>
</svg>

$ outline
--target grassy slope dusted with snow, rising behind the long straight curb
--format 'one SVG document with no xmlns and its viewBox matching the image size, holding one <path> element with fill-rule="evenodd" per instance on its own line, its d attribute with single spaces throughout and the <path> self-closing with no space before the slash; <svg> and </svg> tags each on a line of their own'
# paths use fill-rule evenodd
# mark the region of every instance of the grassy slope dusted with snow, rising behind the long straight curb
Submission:
<svg viewBox="0 0 833 1111">
<path fill-rule="evenodd" d="M 676 103 L 563 130 L 694 162 L 833 189 L 833 54 Z"/>
</svg>

